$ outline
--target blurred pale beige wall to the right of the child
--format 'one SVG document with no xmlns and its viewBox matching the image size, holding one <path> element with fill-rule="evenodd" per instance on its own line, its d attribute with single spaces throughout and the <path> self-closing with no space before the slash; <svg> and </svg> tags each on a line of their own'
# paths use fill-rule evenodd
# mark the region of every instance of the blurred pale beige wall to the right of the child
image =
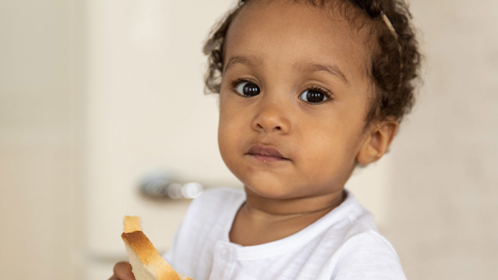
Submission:
<svg viewBox="0 0 498 280">
<path fill-rule="evenodd" d="M 411 279 L 496 279 L 498 2 L 412 8 L 425 85 L 392 147 L 385 233 Z"/>
</svg>

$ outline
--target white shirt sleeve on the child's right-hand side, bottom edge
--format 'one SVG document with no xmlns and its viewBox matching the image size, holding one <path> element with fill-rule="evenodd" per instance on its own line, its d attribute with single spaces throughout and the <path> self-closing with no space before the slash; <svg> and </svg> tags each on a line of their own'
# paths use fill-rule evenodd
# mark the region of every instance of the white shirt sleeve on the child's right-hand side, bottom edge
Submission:
<svg viewBox="0 0 498 280">
<path fill-rule="evenodd" d="M 354 236 L 340 250 L 331 280 L 406 280 L 396 252 L 377 233 Z"/>
</svg>

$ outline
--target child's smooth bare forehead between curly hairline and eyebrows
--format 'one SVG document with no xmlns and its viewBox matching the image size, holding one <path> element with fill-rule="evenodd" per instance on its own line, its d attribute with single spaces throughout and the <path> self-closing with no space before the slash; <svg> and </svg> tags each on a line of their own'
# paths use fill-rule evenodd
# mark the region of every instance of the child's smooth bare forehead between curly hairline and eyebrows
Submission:
<svg viewBox="0 0 498 280">
<path fill-rule="evenodd" d="M 268 63 L 327 62 L 363 79 L 369 53 L 365 33 L 332 5 L 252 0 L 230 25 L 224 61 L 249 54 Z"/>
</svg>

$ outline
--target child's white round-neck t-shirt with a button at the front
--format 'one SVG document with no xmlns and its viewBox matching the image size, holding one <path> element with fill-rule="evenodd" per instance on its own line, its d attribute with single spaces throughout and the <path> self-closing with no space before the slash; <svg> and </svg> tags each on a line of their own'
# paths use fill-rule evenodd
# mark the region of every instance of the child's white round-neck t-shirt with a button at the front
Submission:
<svg viewBox="0 0 498 280">
<path fill-rule="evenodd" d="M 246 199 L 220 188 L 195 199 L 165 259 L 194 280 L 406 280 L 373 215 L 349 192 L 315 223 L 281 240 L 241 246 L 229 232 Z"/>
</svg>

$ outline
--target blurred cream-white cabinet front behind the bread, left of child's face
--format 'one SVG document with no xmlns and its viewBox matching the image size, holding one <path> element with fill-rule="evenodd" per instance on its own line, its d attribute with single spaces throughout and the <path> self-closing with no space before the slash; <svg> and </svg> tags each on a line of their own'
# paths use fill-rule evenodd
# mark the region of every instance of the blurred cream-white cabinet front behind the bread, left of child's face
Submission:
<svg viewBox="0 0 498 280">
<path fill-rule="evenodd" d="M 160 252 L 169 247 L 188 201 L 141 196 L 143 176 L 166 170 L 181 182 L 239 184 L 218 152 L 218 97 L 203 94 L 202 43 L 231 3 L 79 3 L 86 279 L 107 279 L 126 260 L 124 215 L 141 217 Z"/>
</svg>

